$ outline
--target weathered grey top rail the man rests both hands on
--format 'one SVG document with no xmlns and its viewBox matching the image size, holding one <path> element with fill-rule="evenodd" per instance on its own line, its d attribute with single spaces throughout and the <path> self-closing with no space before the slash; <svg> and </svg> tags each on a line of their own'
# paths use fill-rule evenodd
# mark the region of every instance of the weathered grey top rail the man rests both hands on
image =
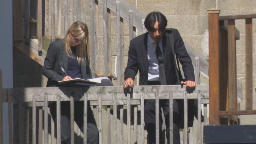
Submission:
<svg viewBox="0 0 256 144">
<path fill-rule="evenodd" d="M 13 102 L 22 98 L 24 102 L 32 102 L 32 96 L 36 96 L 37 102 L 44 101 L 44 94 L 47 93 L 48 101 L 56 101 L 56 95 L 61 95 L 61 101 L 69 101 L 70 96 L 74 100 L 83 100 L 84 94 L 88 95 L 88 100 L 97 100 L 98 94 L 101 94 L 102 100 L 113 100 L 113 93 L 117 94 L 117 100 L 127 100 L 127 93 L 131 99 L 140 100 L 141 93 L 145 93 L 145 99 L 155 99 L 155 93 L 160 93 L 160 99 L 168 99 L 169 93 L 173 93 L 174 99 L 183 99 L 186 92 L 186 86 L 168 85 L 168 86 L 134 86 L 131 92 L 124 90 L 122 86 L 113 87 L 52 87 L 52 88 L 13 88 L 3 89 L 3 101 L 7 100 L 7 91 L 12 95 Z M 197 91 L 202 92 L 202 98 L 209 98 L 209 85 L 197 85 L 194 90 L 187 91 L 188 98 L 197 98 Z"/>
</svg>

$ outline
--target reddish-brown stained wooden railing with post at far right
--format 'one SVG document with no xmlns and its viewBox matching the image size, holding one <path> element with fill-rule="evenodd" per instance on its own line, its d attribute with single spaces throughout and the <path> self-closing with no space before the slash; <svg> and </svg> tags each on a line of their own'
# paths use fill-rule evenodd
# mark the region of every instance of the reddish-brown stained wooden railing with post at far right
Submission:
<svg viewBox="0 0 256 144">
<path fill-rule="evenodd" d="M 220 116 L 256 114 L 252 110 L 252 19 L 256 14 L 219 16 L 219 11 L 208 10 L 210 124 L 217 125 L 230 124 L 222 122 Z M 236 19 L 245 19 L 244 111 L 237 106 Z M 227 25 L 227 31 L 223 25 Z"/>
</svg>

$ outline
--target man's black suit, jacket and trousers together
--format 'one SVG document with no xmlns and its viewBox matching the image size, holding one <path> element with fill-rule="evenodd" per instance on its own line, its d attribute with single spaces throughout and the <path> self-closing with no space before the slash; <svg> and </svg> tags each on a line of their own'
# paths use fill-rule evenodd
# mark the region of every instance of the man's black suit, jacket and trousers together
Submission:
<svg viewBox="0 0 256 144">
<path fill-rule="evenodd" d="M 191 59 L 186 51 L 183 40 L 177 29 L 172 31 L 165 31 L 162 36 L 162 47 L 163 47 L 163 58 L 164 58 L 164 71 L 166 76 L 167 85 L 180 84 L 177 80 L 177 73 L 175 72 L 175 61 L 171 49 L 171 43 L 169 33 L 173 33 L 174 36 L 174 51 L 182 64 L 182 70 L 184 72 L 185 80 L 195 80 L 194 68 L 191 63 Z M 130 42 L 128 51 L 128 64 L 125 69 L 124 75 L 125 80 L 127 78 L 134 79 L 139 70 L 139 85 L 148 85 L 148 58 L 147 58 L 147 37 L 148 32 L 134 38 Z M 160 108 L 163 108 L 166 129 L 169 132 L 169 100 L 160 101 Z M 179 103 L 173 101 L 174 111 L 174 143 L 180 142 L 179 136 L 179 125 L 180 125 L 180 114 L 179 114 Z M 160 113 L 161 115 L 161 113 Z M 160 117 L 160 126 L 162 119 Z M 148 131 L 148 138 L 150 143 L 155 143 L 155 100 L 145 101 L 145 124 Z M 161 133 L 160 133 L 161 134 Z M 167 140 L 169 134 L 166 133 Z M 161 137 L 161 136 L 160 136 Z"/>
</svg>

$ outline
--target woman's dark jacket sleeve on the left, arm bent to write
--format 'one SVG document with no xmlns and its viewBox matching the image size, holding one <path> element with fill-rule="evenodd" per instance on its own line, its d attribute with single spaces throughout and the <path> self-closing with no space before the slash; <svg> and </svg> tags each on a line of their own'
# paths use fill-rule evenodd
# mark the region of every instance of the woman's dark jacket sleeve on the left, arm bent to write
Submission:
<svg viewBox="0 0 256 144">
<path fill-rule="evenodd" d="M 58 82 L 64 78 L 64 76 L 53 71 L 54 65 L 56 63 L 56 55 L 59 54 L 59 47 L 60 46 L 54 42 L 50 44 L 44 60 L 44 66 L 42 68 L 43 75 L 46 76 L 49 80 L 55 82 Z"/>
</svg>

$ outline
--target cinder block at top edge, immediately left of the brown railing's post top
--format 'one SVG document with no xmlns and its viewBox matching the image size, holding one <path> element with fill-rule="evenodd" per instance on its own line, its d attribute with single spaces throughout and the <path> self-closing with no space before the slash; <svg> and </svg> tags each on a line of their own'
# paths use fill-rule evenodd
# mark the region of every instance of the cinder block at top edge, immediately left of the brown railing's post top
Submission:
<svg viewBox="0 0 256 144">
<path fill-rule="evenodd" d="M 207 9 L 216 8 L 216 1 L 213 0 L 177 0 L 177 15 L 207 15 Z"/>
</svg>

